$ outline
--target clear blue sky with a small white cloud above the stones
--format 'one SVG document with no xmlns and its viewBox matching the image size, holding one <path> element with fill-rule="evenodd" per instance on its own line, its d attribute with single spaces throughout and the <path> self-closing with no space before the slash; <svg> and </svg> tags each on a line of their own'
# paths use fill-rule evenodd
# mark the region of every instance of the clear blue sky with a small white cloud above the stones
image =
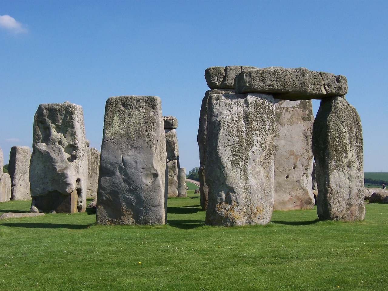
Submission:
<svg viewBox="0 0 388 291">
<path fill-rule="evenodd" d="M 388 172 L 386 1 L 0 0 L 0 147 L 32 144 L 41 103 L 83 107 L 100 149 L 106 99 L 156 95 L 178 118 L 180 164 L 199 165 L 210 66 L 343 74 L 360 114 L 364 171 Z M 314 102 L 314 111 L 319 101 Z"/>
</svg>

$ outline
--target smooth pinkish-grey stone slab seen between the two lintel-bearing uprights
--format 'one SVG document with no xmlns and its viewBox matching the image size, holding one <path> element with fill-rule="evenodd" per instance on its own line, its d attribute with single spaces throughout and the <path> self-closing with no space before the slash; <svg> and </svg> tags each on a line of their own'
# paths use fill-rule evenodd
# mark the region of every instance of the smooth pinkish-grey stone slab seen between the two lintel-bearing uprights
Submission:
<svg viewBox="0 0 388 291">
<path fill-rule="evenodd" d="M 274 210 L 314 208 L 311 100 L 275 100 Z"/>
</svg>

